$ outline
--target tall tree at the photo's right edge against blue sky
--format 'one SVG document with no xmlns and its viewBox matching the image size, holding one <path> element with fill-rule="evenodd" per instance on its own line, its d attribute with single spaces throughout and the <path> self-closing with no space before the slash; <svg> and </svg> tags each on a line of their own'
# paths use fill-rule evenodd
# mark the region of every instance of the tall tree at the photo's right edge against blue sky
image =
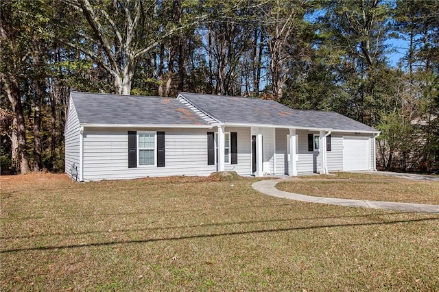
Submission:
<svg viewBox="0 0 439 292">
<path fill-rule="evenodd" d="M 413 117 L 419 127 L 417 140 L 422 159 L 419 169 L 431 171 L 438 157 L 437 84 L 439 73 L 439 3 L 438 1 L 396 1 L 395 34 L 409 44 L 401 65 L 408 70 L 407 99 L 416 104 Z"/>
</svg>

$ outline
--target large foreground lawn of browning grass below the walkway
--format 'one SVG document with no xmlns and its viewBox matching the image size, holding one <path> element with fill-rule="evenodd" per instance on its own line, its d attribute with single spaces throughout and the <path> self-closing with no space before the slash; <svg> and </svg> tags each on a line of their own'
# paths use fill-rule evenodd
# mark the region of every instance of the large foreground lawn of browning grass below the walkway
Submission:
<svg viewBox="0 0 439 292">
<path fill-rule="evenodd" d="M 439 215 L 278 199 L 254 181 L 0 178 L 0 290 L 439 289 Z"/>
</svg>

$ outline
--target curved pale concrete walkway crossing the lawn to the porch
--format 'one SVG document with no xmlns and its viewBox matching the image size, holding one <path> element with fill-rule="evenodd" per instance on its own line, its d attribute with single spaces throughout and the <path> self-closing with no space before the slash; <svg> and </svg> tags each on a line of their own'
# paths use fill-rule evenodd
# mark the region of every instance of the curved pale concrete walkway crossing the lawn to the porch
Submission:
<svg viewBox="0 0 439 292">
<path fill-rule="evenodd" d="M 337 199 L 332 197 L 313 197 L 309 195 L 300 195 L 295 193 L 289 193 L 278 190 L 276 184 L 278 182 L 291 181 L 288 179 L 281 180 L 261 180 L 254 182 L 252 188 L 265 195 L 272 195 L 274 197 L 282 197 L 285 199 L 294 199 L 296 201 L 331 204 L 340 206 L 373 208 L 373 209 L 389 209 L 389 210 L 402 210 L 407 212 L 427 212 L 427 213 L 439 213 L 439 205 L 427 205 L 427 204 L 411 204 L 411 203 L 397 203 L 397 202 L 381 202 L 381 201 L 366 201 L 359 199 Z"/>
</svg>

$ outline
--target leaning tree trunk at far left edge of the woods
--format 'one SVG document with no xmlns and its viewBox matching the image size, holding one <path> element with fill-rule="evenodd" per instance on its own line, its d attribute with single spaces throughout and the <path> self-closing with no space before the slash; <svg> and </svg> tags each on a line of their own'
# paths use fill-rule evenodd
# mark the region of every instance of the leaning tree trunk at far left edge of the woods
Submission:
<svg viewBox="0 0 439 292">
<path fill-rule="evenodd" d="M 16 118 L 17 152 L 20 160 L 20 173 L 25 174 L 29 172 L 29 160 L 26 154 L 26 127 L 23 106 L 21 105 L 19 84 L 11 75 L 8 76 L 7 80 L 5 77 L 3 77 L 2 80 L 5 84 L 5 91 L 12 104 L 12 110 Z"/>
</svg>

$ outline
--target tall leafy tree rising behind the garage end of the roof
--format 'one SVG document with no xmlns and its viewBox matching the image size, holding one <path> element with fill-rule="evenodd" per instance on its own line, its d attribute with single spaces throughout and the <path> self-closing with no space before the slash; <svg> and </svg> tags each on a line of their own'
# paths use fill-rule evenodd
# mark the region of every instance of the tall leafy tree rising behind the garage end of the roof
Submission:
<svg viewBox="0 0 439 292">
<path fill-rule="evenodd" d="M 337 75 L 342 91 L 348 93 L 348 116 L 376 125 L 380 104 L 375 85 L 385 69 L 385 40 L 390 27 L 390 3 L 380 0 L 322 2 L 327 14 L 320 18 L 324 45 L 338 56 Z"/>
</svg>

